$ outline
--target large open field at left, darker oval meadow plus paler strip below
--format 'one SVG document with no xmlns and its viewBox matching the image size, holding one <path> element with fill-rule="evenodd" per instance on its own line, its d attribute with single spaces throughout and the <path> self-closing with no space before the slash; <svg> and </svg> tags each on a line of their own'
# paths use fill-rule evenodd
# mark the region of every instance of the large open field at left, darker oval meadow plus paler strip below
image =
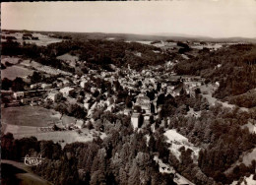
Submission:
<svg viewBox="0 0 256 185">
<path fill-rule="evenodd" d="M 63 125 L 76 123 L 76 118 L 63 115 L 55 110 L 45 109 L 39 106 L 18 106 L 2 109 L 2 132 L 10 132 L 15 139 L 34 136 L 37 140 L 52 140 L 59 143 L 62 147 L 74 142 L 93 141 L 99 132 L 95 130 L 81 129 L 82 133 L 78 134 L 77 130 L 68 131 L 47 131 L 42 132 L 41 127 L 51 127 L 54 123 L 62 122 Z M 101 138 L 105 134 L 99 134 Z"/>
</svg>

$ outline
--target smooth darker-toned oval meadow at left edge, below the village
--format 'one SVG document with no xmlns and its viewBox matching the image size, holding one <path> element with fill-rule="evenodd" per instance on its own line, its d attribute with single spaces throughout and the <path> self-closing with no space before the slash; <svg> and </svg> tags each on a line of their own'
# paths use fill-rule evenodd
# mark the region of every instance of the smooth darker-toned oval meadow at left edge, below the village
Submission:
<svg viewBox="0 0 256 185">
<path fill-rule="evenodd" d="M 60 114 L 39 106 L 2 108 L 2 124 L 45 127 L 59 121 Z"/>
</svg>

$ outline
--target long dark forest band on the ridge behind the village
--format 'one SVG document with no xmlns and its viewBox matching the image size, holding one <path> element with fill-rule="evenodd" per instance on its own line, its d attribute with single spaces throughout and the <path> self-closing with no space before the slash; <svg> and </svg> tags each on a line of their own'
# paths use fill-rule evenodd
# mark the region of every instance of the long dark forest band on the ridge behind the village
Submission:
<svg viewBox="0 0 256 185">
<path fill-rule="evenodd" d="M 127 67 L 129 64 L 133 69 L 142 70 L 149 65 L 163 64 L 169 59 L 168 55 L 154 51 L 160 51 L 160 48 L 137 42 L 107 40 L 87 40 L 85 42 L 66 40 L 48 46 L 21 45 L 16 41 L 2 43 L 3 55 L 23 55 L 23 57 L 34 59 L 43 65 L 69 72 L 74 72 L 74 69 L 56 59 L 57 56 L 69 52 L 79 56 L 79 60 L 84 61 L 83 65 L 89 65 L 96 69 L 107 69 L 109 64 L 114 64 L 117 67 Z M 85 68 L 85 66 L 80 67 Z"/>
</svg>

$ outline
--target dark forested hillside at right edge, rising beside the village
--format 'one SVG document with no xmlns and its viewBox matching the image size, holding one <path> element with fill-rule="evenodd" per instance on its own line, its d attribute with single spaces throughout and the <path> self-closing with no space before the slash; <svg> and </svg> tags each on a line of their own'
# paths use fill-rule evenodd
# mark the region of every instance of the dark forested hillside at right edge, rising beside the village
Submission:
<svg viewBox="0 0 256 185">
<path fill-rule="evenodd" d="M 219 82 L 216 97 L 241 94 L 256 88 L 256 45 L 230 45 L 202 53 L 180 62 L 175 70 L 179 75 L 201 75 L 208 82 Z"/>
</svg>

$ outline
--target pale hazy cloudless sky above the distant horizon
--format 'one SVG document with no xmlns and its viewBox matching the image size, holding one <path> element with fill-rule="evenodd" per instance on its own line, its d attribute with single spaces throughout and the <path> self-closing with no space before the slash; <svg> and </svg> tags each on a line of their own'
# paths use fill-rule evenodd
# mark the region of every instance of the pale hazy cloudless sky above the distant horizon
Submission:
<svg viewBox="0 0 256 185">
<path fill-rule="evenodd" d="M 1 3 L 10 30 L 256 37 L 255 0 Z"/>
</svg>

